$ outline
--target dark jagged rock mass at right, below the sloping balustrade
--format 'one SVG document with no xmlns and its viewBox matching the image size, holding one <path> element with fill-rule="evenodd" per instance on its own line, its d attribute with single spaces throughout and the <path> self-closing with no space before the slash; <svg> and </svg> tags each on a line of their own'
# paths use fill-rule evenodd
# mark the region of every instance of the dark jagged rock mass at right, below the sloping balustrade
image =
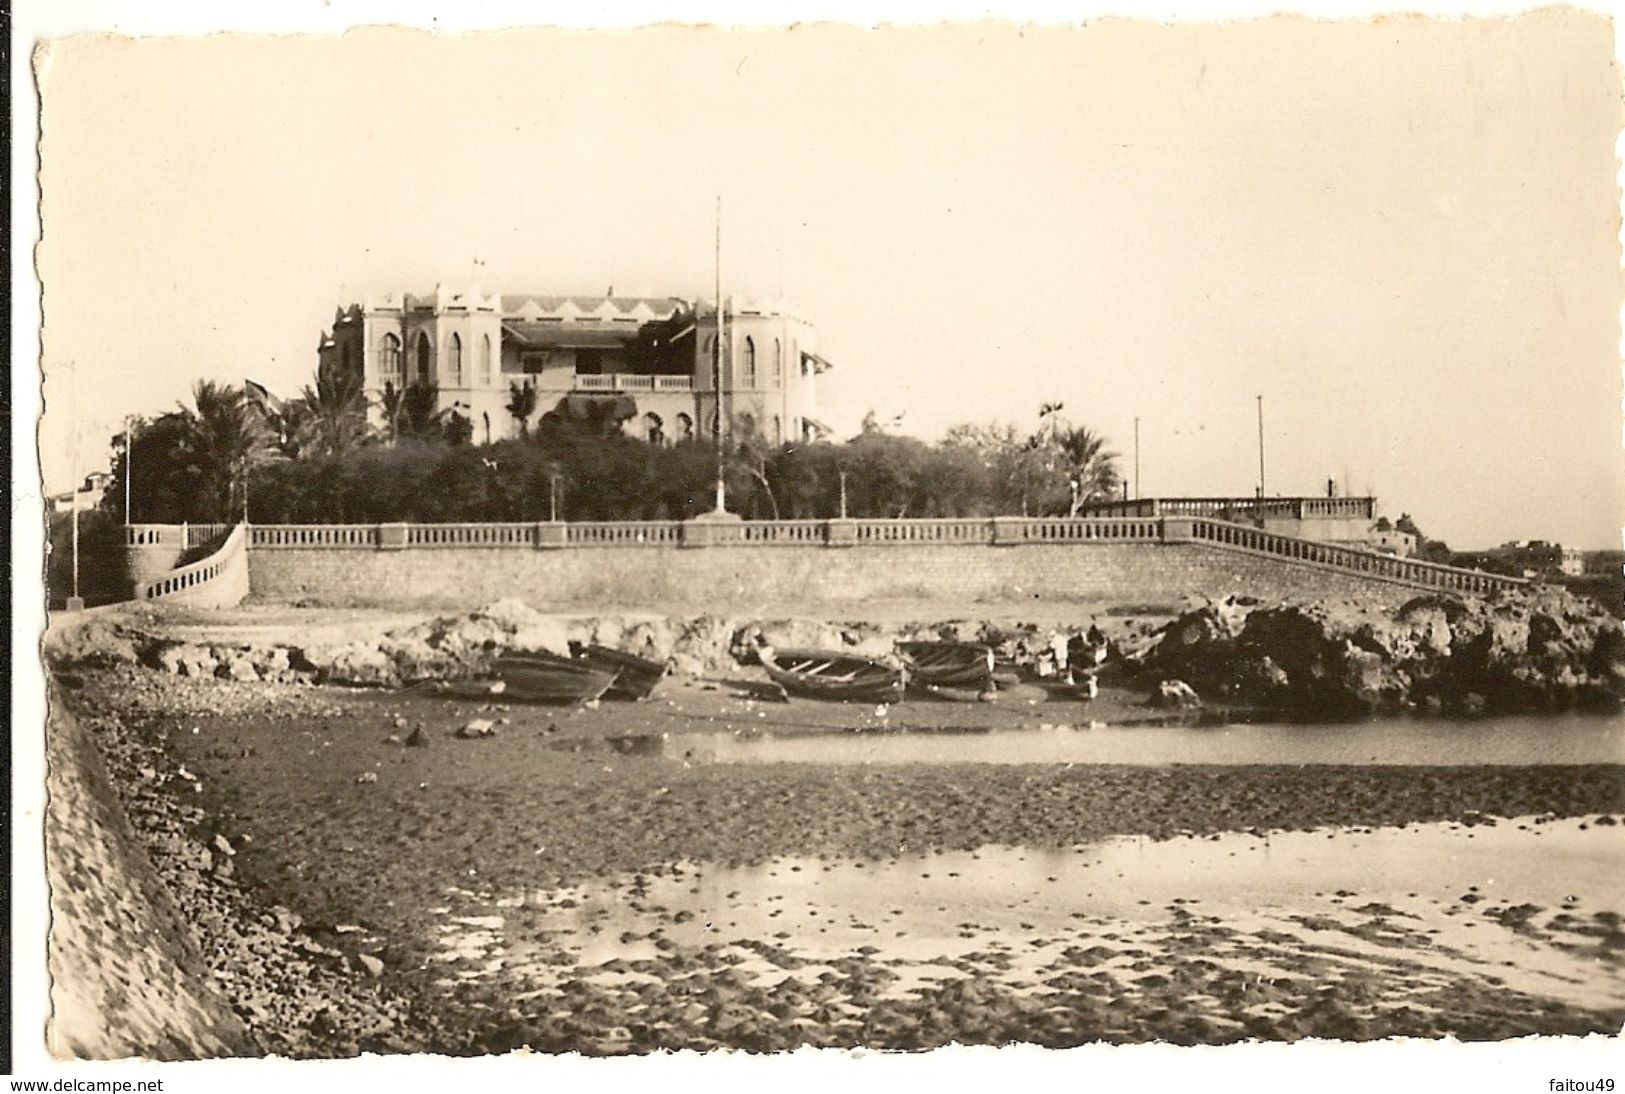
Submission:
<svg viewBox="0 0 1625 1094">
<path fill-rule="evenodd" d="M 1425 595 L 1396 610 L 1214 601 L 1164 627 L 1144 663 L 1204 696 L 1323 717 L 1614 707 L 1625 696 L 1620 621 L 1555 588 Z"/>
</svg>

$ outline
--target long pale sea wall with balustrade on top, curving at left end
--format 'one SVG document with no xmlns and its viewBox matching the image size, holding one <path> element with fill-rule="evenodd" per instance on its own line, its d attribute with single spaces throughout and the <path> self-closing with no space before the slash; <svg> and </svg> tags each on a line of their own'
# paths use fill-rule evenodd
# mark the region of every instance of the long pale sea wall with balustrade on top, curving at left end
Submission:
<svg viewBox="0 0 1625 1094">
<path fill-rule="evenodd" d="M 1402 598 L 1417 590 L 1485 595 L 1529 584 L 1196 515 L 255 525 L 232 532 L 208 559 L 172 569 L 190 538 L 179 525 L 127 530 L 132 575 L 166 558 L 171 566 L 140 575 L 140 597 L 236 603 L 250 580 L 268 597 L 380 603 L 514 590 L 538 600 L 616 597 L 619 603 L 899 588 L 921 597 L 1024 588 L 1024 595 L 1061 597 Z"/>
</svg>

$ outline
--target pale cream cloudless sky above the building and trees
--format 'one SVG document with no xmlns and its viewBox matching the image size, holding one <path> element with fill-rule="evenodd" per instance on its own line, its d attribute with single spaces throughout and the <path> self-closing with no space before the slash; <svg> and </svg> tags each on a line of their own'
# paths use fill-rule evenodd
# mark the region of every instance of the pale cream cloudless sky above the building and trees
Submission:
<svg viewBox="0 0 1625 1094">
<path fill-rule="evenodd" d="M 340 302 L 801 304 L 827 413 L 1107 432 L 1141 493 L 1375 491 L 1618 546 L 1601 16 L 67 39 L 41 57 L 46 483 Z M 75 380 L 76 374 L 76 380 Z M 76 413 L 73 411 L 76 400 Z"/>
</svg>

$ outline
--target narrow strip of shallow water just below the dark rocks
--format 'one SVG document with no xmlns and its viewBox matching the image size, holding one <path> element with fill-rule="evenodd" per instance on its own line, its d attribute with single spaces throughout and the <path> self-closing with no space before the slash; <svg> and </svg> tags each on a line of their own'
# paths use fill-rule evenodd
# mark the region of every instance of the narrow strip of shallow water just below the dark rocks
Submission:
<svg viewBox="0 0 1625 1094">
<path fill-rule="evenodd" d="M 869 733 L 704 733 L 666 746 L 718 764 L 1620 764 L 1625 715 L 1472 722 L 1102 725 Z"/>
</svg>

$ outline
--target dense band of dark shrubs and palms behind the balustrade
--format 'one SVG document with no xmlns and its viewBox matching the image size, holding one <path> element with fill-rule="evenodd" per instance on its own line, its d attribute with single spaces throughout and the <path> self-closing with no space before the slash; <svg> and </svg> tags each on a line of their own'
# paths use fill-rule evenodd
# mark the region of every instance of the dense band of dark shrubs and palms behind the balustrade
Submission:
<svg viewBox="0 0 1625 1094">
<path fill-rule="evenodd" d="M 247 415 L 240 393 L 200 385 L 195 403 L 135 431 L 136 523 L 232 520 L 244 493 L 255 523 L 684 520 L 715 504 L 710 444 L 650 445 L 613 419 L 551 413 L 528 437 L 474 445 L 450 444 L 444 429 L 401 428 L 403 413 L 392 418 L 395 429 L 344 445 L 289 447 L 271 434 L 310 431 L 273 429 L 280 419 Z M 819 520 L 840 515 L 845 494 L 848 517 L 1066 512 L 1066 441 L 1092 434 L 1060 429 L 1053 410 L 1032 436 L 967 428 L 934 445 L 873 423 L 843 444 L 767 445 L 746 436 L 722 462 L 728 507 L 751 519 Z M 1107 478 L 1112 458 L 1095 460 Z M 125 470 L 115 437 L 102 504 L 120 517 Z"/>
</svg>

